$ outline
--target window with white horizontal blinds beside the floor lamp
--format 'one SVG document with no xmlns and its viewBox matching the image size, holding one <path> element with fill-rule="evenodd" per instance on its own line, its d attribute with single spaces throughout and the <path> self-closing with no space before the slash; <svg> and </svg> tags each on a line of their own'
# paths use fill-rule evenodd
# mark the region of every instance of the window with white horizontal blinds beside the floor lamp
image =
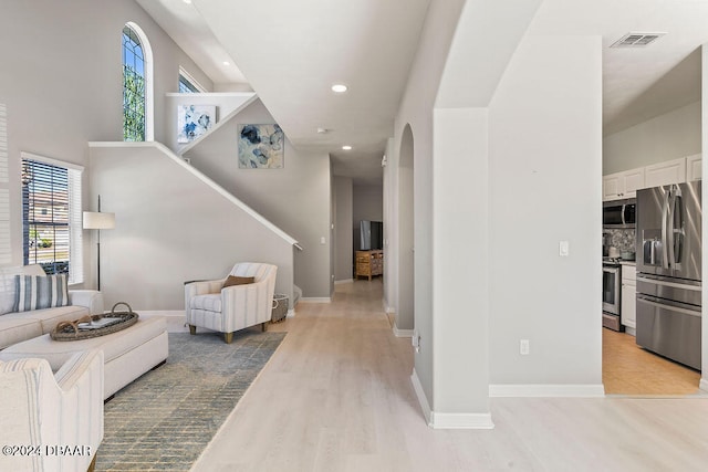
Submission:
<svg viewBox="0 0 708 472">
<path fill-rule="evenodd" d="M 83 168 L 22 153 L 24 264 L 83 282 L 81 172 Z"/>
</svg>

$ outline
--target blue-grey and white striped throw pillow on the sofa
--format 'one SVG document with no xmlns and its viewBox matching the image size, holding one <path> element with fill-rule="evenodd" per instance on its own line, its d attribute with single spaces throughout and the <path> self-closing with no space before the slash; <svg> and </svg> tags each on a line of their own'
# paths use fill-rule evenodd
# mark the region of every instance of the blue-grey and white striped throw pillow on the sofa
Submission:
<svg viewBox="0 0 708 472">
<path fill-rule="evenodd" d="M 14 312 L 69 305 L 66 274 L 15 275 Z"/>
</svg>

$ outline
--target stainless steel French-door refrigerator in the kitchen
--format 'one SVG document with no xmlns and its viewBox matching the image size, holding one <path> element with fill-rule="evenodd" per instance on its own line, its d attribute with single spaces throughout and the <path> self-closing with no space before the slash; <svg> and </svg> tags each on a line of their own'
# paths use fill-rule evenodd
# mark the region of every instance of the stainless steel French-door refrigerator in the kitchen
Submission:
<svg viewBox="0 0 708 472">
<path fill-rule="evenodd" d="M 700 370 L 700 181 L 637 191 L 639 346 Z"/>
</svg>

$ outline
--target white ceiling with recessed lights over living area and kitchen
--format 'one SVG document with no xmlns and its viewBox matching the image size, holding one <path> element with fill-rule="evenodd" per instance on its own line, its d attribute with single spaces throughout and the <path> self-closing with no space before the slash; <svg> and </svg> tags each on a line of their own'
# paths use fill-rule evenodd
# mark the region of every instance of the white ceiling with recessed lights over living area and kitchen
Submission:
<svg viewBox="0 0 708 472">
<path fill-rule="evenodd" d="M 219 90 L 252 87 L 293 146 L 329 154 L 334 174 L 357 185 L 381 185 L 430 0 L 136 1 Z M 545 0 L 528 32 L 602 36 L 605 135 L 700 98 L 706 0 Z M 666 34 L 610 48 L 628 32 Z M 348 91 L 334 94 L 335 83 Z"/>
</svg>

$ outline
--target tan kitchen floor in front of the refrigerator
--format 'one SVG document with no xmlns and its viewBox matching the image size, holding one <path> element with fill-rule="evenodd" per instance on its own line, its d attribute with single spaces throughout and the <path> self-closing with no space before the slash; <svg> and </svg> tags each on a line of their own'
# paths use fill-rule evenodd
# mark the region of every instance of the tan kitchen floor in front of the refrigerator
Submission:
<svg viewBox="0 0 708 472">
<path fill-rule="evenodd" d="M 636 338 L 603 328 L 602 382 L 606 395 L 696 395 L 700 373 L 637 346 Z"/>
</svg>

